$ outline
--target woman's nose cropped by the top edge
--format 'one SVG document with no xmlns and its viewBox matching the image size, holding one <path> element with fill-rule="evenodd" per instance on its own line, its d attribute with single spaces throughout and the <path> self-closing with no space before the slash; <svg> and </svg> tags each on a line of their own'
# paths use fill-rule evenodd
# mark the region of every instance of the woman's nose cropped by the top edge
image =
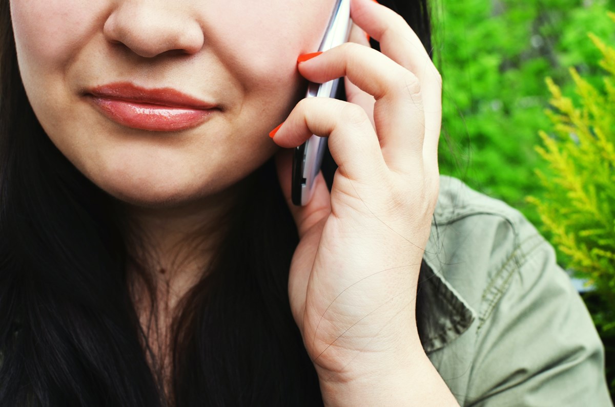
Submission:
<svg viewBox="0 0 615 407">
<path fill-rule="evenodd" d="M 204 44 L 203 31 L 194 16 L 167 0 L 119 2 L 105 21 L 103 33 L 108 41 L 124 44 L 146 58 L 171 50 L 192 54 Z"/>
</svg>

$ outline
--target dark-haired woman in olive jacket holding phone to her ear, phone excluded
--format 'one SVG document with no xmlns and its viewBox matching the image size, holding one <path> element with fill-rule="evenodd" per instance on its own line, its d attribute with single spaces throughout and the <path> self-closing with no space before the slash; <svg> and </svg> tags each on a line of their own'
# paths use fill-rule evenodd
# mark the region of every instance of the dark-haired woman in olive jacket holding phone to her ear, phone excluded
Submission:
<svg viewBox="0 0 615 407">
<path fill-rule="evenodd" d="M 438 198 L 426 4 L 333 3 L 2 0 L 0 405 L 608 403 L 549 246 Z"/>
</svg>

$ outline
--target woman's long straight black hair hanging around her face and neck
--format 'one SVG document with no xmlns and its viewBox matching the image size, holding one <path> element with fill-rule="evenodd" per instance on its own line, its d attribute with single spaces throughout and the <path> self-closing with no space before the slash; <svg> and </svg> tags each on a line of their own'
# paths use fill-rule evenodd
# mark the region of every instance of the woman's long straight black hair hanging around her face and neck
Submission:
<svg viewBox="0 0 615 407">
<path fill-rule="evenodd" d="M 431 51 L 426 0 L 381 2 Z M 34 116 L 8 0 L 0 0 L 0 78 L 0 405 L 166 405 L 130 297 L 125 266 L 135 259 L 122 211 Z M 290 312 L 298 236 L 272 160 L 248 181 L 173 322 L 170 404 L 178 407 L 322 405 Z"/>
</svg>

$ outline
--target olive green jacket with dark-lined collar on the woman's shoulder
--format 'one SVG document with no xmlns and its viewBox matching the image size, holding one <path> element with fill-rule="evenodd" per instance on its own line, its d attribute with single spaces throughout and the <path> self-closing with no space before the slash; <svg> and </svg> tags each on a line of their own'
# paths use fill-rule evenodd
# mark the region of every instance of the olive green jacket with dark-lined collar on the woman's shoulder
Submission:
<svg viewBox="0 0 615 407">
<path fill-rule="evenodd" d="M 461 406 L 612 406 L 604 349 L 549 243 L 442 176 L 419 284 L 423 347 Z"/>
</svg>

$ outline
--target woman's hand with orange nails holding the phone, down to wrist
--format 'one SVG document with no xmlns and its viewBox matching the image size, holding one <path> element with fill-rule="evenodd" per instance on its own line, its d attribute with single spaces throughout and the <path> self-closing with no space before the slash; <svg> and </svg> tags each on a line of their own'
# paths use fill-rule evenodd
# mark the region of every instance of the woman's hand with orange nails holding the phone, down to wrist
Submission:
<svg viewBox="0 0 615 407">
<path fill-rule="evenodd" d="M 300 63 L 312 82 L 346 77 L 347 101 L 301 100 L 274 141 L 328 136 L 338 171 L 322 173 L 305 207 L 290 200 L 292 151 L 276 157 L 298 227 L 290 268 L 293 316 L 322 381 L 349 382 L 412 362 L 418 272 L 438 194 L 442 81 L 407 23 L 353 0 L 351 41 Z M 422 350 L 422 348 L 421 348 Z"/>
</svg>

